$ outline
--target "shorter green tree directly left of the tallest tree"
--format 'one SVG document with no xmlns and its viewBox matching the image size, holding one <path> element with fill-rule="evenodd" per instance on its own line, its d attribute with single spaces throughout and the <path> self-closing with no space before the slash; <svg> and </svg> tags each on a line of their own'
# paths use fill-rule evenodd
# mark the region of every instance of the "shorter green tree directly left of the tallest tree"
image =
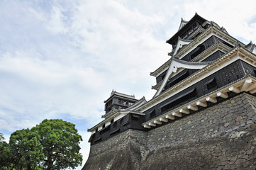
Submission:
<svg viewBox="0 0 256 170">
<path fill-rule="evenodd" d="M 16 130 L 10 137 L 9 145 L 12 162 L 16 169 L 37 169 L 43 161 L 43 147 L 38 132 L 29 129 Z"/>
</svg>

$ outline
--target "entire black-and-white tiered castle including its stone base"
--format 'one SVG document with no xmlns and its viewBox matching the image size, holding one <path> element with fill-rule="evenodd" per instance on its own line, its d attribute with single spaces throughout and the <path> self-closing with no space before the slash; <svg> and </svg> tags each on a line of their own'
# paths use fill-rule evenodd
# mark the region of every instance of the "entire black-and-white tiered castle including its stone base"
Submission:
<svg viewBox="0 0 256 170">
<path fill-rule="evenodd" d="M 112 91 L 83 169 L 256 169 L 256 47 L 182 19 L 155 96 Z"/>
</svg>

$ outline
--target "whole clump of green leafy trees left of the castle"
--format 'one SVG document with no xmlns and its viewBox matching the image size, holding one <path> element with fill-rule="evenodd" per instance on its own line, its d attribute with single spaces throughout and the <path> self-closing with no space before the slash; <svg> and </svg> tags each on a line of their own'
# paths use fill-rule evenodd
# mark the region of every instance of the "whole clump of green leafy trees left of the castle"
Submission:
<svg viewBox="0 0 256 170">
<path fill-rule="evenodd" d="M 75 125 L 58 119 L 16 130 L 9 144 L 0 133 L 0 170 L 74 169 L 82 164 L 80 141 Z"/>
</svg>

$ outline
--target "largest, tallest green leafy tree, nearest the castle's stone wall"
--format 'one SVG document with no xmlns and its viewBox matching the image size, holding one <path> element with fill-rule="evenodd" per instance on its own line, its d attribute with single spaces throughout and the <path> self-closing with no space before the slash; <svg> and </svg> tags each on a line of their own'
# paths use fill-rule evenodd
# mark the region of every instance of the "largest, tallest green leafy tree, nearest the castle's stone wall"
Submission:
<svg viewBox="0 0 256 170">
<path fill-rule="evenodd" d="M 74 124 L 60 119 L 45 119 L 31 130 L 40 135 L 45 169 L 74 169 L 82 164 L 82 154 L 79 153 L 82 137 Z"/>
</svg>

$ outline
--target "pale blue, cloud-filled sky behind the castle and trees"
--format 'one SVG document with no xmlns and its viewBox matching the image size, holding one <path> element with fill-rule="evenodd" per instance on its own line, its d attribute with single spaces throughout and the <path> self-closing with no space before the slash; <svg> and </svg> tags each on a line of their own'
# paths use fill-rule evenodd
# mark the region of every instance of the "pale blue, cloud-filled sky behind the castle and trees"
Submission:
<svg viewBox="0 0 256 170">
<path fill-rule="evenodd" d="M 245 44 L 256 43 L 255 1 L 0 0 L 0 132 L 44 119 L 82 135 L 104 115 L 111 91 L 150 100 L 150 72 L 169 60 L 166 40 L 198 13 Z M 77 169 L 81 169 L 79 166 Z"/>
</svg>

